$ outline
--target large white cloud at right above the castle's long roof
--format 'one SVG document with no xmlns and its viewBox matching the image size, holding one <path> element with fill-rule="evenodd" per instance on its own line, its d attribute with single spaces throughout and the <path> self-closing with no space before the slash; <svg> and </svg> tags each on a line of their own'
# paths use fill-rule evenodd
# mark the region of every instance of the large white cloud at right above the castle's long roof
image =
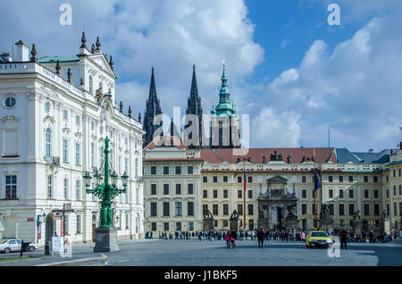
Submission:
<svg viewBox="0 0 402 284">
<path fill-rule="evenodd" d="M 272 80 L 264 102 L 278 113 L 301 114 L 304 146 L 325 145 L 328 128 L 335 146 L 395 146 L 402 109 L 401 28 L 400 17 L 375 18 L 332 51 L 316 40 L 297 69 Z"/>
</svg>

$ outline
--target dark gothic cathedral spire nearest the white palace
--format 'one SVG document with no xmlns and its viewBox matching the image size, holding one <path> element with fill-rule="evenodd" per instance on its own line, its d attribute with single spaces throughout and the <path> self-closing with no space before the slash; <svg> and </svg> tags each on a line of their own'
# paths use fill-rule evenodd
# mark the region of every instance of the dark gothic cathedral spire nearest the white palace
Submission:
<svg viewBox="0 0 402 284">
<path fill-rule="evenodd" d="M 159 125 L 154 125 L 154 117 L 157 114 L 161 114 L 161 105 L 159 104 L 159 99 L 156 96 L 156 86 L 155 86 L 155 74 L 154 74 L 154 67 L 152 67 L 152 74 L 151 74 L 151 83 L 149 86 L 149 96 L 147 99 L 146 111 L 144 115 L 144 123 L 142 124 L 144 130 L 147 133 L 144 135 L 143 147 L 147 146 L 149 143 L 152 142 L 154 138 L 154 132 L 160 126 L 162 126 L 162 121 Z"/>
</svg>

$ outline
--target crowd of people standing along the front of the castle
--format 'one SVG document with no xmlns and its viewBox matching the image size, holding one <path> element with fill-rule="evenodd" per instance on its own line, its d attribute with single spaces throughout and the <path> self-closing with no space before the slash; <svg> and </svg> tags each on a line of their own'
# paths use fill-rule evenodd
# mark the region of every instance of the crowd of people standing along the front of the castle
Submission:
<svg viewBox="0 0 402 284">
<path fill-rule="evenodd" d="M 360 233 L 354 233 L 351 230 L 327 229 L 328 235 L 334 238 L 342 238 L 348 243 L 385 243 L 394 241 L 398 238 L 398 232 L 393 231 L 389 234 L 374 233 L 373 230 L 366 232 L 362 230 Z M 175 231 L 175 232 L 159 232 L 159 239 L 193 239 L 197 241 L 209 240 L 225 240 L 228 248 L 236 247 L 236 240 L 258 240 L 258 245 L 263 246 L 264 242 L 306 242 L 307 231 L 304 230 L 278 230 L 278 229 L 255 229 L 255 230 L 210 230 L 210 231 Z M 147 231 L 145 238 L 153 239 L 154 233 Z"/>
</svg>

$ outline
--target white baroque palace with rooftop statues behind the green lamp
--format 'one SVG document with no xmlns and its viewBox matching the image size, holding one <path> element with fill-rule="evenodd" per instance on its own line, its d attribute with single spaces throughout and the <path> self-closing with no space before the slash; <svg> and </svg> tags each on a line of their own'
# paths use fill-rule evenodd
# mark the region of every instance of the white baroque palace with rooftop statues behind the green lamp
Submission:
<svg viewBox="0 0 402 284">
<path fill-rule="evenodd" d="M 113 170 L 129 175 L 126 194 L 113 202 L 119 238 L 143 237 L 141 122 L 115 104 L 113 61 L 91 51 L 83 33 L 80 54 L 36 58 L 17 42 L 15 58 L 0 55 L 0 222 L 3 238 L 43 245 L 51 236 L 91 242 L 100 202 L 82 176 L 99 170 L 105 137 Z M 105 96 L 110 94 L 110 96 Z M 138 119 L 139 120 L 139 119 Z M 121 179 L 117 181 L 119 188 Z M 91 187 L 92 188 L 92 187 Z M 64 225 L 62 221 L 64 208 Z M 0 226 L 0 230 L 1 230 Z M 1 236 L 0 236 L 1 238 Z"/>
</svg>

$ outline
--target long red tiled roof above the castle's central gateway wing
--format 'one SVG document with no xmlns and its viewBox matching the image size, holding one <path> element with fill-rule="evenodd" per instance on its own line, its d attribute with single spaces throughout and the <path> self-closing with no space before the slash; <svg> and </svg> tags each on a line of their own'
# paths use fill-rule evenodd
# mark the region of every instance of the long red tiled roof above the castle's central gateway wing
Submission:
<svg viewBox="0 0 402 284">
<path fill-rule="evenodd" d="M 251 163 L 263 163 L 263 156 L 265 161 L 270 161 L 270 156 L 276 150 L 277 154 L 283 155 L 283 162 L 288 163 L 287 159 L 290 155 L 290 163 L 301 163 L 303 157 L 312 158 L 316 163 L 337 163 L 336 156 L 333 155 L 334 147 L 320 147 L 320 148 L 250 148 L 245 149 L 245 155 L 234 155 L 233 151 L 242 149 L 202 149 L 201 158 L 207 163 L 236 163 L 238 158 L 242 159 L 243 156 L 251 157 Z"/>
</svg>

